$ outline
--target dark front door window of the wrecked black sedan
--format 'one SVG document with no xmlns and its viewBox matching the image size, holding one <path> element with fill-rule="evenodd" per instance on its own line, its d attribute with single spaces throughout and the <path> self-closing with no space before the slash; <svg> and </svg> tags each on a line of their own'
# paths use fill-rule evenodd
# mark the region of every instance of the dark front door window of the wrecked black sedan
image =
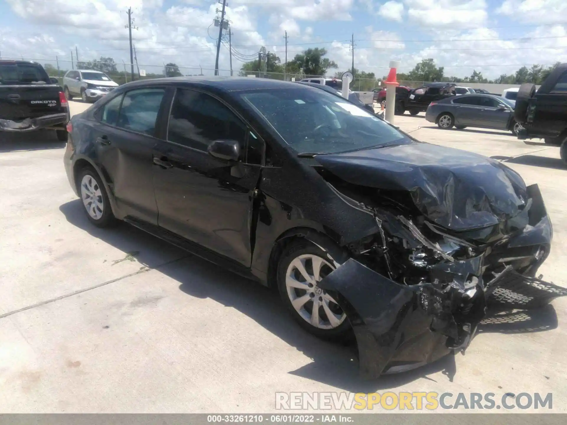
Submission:
<svg viewBox="0 0 567 425">
<path fill-rule="evenodd" d="M 207 151 L 218 139 L 246 146 L 247 126 L 218 99 L 206 93 L 178 89 L 171 107 L 167 139 L 179 145 Z"/>
</svg>

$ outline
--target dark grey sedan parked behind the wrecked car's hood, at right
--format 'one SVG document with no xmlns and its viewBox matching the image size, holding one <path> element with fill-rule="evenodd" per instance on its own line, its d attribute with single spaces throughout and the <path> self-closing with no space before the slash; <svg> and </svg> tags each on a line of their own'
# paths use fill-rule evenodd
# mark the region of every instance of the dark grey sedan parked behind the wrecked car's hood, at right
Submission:
<svg viewBox="0 0 567 425">
<path fill-rule="evenodd" d="M 522 125 L 514 120 L 514 104 L 500 96 L 462 95 L 431 102 L 425 119 L 447 130 L 480 127 L 510 130 L 517 135 Z"/>
</svg>

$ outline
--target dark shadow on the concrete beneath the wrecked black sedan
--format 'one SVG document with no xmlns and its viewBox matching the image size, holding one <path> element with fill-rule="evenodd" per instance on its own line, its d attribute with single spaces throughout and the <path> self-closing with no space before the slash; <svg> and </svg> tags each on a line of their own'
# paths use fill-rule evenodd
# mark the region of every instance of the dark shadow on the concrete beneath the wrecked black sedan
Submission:
<svg viewBox="0 0 567 425">
<path fill-rule="evenodd" d="M 356 343 L 341 345 L 325 342 L 307 333 L 287 313 L 276 290 L 240 277 L 208 261 L 203 261 L 200 257 L 176 248 L 129 224 L 120 223 L 115 228 L 99 229 L 88 221 L 79 199 L 61 205 L 60 211 L 69 223 L 93 237 L 124 253 L 135 250 L 138 262 L 159 270 L 160 273 L 179 282 L 179 289 L 184 294 L 201 299 L 209 298 L 225 307 L 238 310 L 312 360 L 303 367 L 288 371 L 287 373 L 291 375 L 332 385 L 349 392 L 364 393 L 397 388 L 418 379 L 435 381 L 437 377 L 433 379 L 428 375 L 438 372 L 442 372 L 449 381 L 452 381 L 456 375 L 455 357 L 447 355 L 437 362 L 413 371 L 383 375 L 374 380 L 363 380 L 358 373 Z M 171 252 L 168 257 L 178 260 L 164 264 L 163 255 L 160 253 L 165 250 Z M 479 332 L 538 332 L 557 327 L 557 317 L 554 316 L 555 310 L 552 307 L 546 311 L 548 316 L 533 316 L 536 314 L 535 311 L 522 313 L 525 313 L 526 316 L 515 315 L 515 313 L 498 313 L 493 319 L 486 318 L 481 323 Z M 526 320 L 526 317 L 532 322 Z M 553 317 L 555 317 L 555 322 L 551 320 Z M 253 362 L 251 362 L 251 367 L 254 367 Z"/>
</svg>

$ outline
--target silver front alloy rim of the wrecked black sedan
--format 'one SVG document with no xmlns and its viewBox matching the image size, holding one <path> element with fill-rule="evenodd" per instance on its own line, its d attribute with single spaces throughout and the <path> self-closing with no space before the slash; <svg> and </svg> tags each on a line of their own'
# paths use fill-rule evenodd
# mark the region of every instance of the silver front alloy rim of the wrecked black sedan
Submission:
<svg viewBox="0 0 567 425">
<path fill-rule="evenodd" d="M 300 255 L 287 266 L 285 284 L 291 305 L 318 329 L 336 328 L 346 318 L 337 301 L 318 286 L 333 270 L 335 267 L 313 254 Z"/>
</svg>

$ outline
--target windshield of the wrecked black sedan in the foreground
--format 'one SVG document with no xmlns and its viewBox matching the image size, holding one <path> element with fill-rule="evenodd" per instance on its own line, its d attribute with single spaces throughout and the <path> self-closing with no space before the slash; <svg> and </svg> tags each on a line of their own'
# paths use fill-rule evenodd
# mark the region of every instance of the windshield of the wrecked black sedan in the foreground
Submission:
<svg viewBox="0 0 567 425">
<path fill-rule="evenodd" d="M 323 90 L 255 90 L 240 96 L 299 153 L 336 154 L 408 140 L 374 114 Z"/>
</svg>

